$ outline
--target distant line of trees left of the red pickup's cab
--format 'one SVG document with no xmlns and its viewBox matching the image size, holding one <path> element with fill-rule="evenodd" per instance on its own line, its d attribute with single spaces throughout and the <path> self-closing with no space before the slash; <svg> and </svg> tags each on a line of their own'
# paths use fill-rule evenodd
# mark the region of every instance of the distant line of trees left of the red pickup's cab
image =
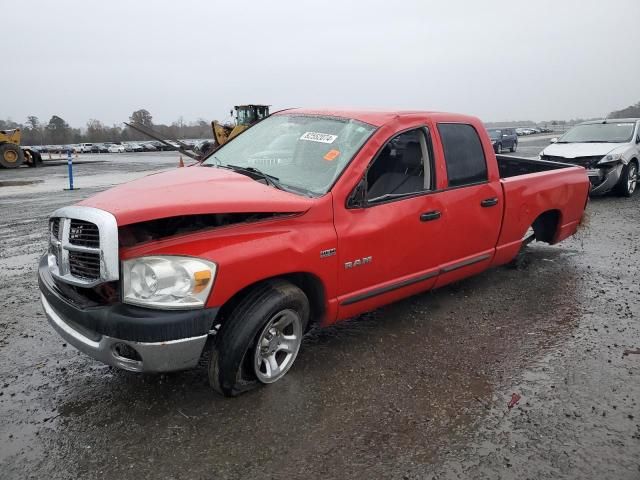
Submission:
<svg viewBox="0 0 640 480">
<path fill-rule="evenodd" d="M 185 122 L 180 117 L 170 125 L 155 124 L 146 109 L 136 110 L 129 117 L 129 123 L 152 128 L 164 138 L 212 138 L 211 124 L 199 119 Z M 27 117 L 25 123 L 0 120 L 0 130 L 19 128 L 23 145 L 66 145 L 72 143 L 126 142 L 150 140 L 146 135 L 125 125 L 105 125 L 100 120 L 90 119 L 85 128 L 73 128 L 62 117 L 53 115 L 48 122 L 42 122 L 35 115 Z"/>
</svg>

